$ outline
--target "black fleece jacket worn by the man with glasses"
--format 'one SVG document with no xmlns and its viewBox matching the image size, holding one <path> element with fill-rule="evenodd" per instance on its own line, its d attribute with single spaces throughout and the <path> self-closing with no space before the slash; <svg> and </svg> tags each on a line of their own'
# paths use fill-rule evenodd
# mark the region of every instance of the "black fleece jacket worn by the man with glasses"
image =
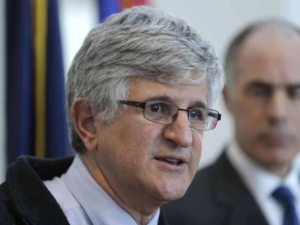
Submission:
<svg viewBox="0 0 300 225">
<path fill-rule="evenodd" d="M 0 225 L 69 225 L 43 180 L 66 173 L 73 157 L 40 159 L 21 156 L 9 165 L 0 185 Z M 158 225 L 166 225 L 161 211 Z"/>
</svg>

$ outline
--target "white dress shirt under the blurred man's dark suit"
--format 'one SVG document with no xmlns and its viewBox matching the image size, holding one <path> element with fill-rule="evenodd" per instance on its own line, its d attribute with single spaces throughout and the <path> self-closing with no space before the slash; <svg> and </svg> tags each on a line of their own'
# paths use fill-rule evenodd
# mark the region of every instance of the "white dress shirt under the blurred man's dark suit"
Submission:
<svg viewBox="0 0 300 225">
<path fill-rule="evenodd" d="M 285 178 L 281 178 L 262 168 L 252 158 L 247 156 L 236 142 L 229 146 L 226 154 L 230 163 L 252 193 L 262 214 L 270 225 L 282 225 L 284 208 L 272 197 L 272 193 L 281 185 L 288 187 L 295 197 L 296 214 L 298 219 L 300 219 L 299 154 L 293 161 L 292 168 Z"/>
</svg>

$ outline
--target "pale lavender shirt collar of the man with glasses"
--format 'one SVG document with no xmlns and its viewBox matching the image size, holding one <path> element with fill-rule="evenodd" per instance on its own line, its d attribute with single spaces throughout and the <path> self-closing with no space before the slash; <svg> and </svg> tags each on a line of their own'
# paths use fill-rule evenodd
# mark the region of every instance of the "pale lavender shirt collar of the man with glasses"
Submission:
<svg viewBox="0 0 300 225">
<path fill-rule="evenodd" d="M 93 224 L 134 224 L 137 222 L 93 179 L 77 155 L 65 176 L 65 183 Z M 148 225 L 157 225 L 160 209 Z"/>
</svg>

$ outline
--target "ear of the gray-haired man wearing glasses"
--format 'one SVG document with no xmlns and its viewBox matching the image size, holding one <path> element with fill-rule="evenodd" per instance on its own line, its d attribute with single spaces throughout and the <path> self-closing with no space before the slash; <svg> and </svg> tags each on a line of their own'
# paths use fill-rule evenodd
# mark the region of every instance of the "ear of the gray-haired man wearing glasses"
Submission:
<svg viewBox="0 0 300 225">
<path fill-rule="evenodd" d="M 83 98 L 77 98 L 71 105 L 71 115 L 76 131 L 88 151 L 98 147 L 94 116 L 90 108 L 83 103 Z"/>
</svg>

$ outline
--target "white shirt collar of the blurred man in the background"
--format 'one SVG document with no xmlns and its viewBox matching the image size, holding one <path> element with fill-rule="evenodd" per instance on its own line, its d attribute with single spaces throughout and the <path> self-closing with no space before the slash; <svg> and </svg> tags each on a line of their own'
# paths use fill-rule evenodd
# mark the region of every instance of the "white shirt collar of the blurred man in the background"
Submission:
<svg viewBox="0 0 300 225">
<path fill-rule="evenodd" d="M 299 171 L 295 163 L 292 164 L 293 166 L 287 176 L 282 179 L 276 174 L 267 171 L 246 155 L 236 142 L 233 142 L 229 146 L 226 154 L 250 192 L 257 199 L 270 197 L 274 190 L 283 184 L 291 188 L 292 192 L 300 185 Z M 297 194 L 300 195 L 299 192 L 300 189 L 297 190 Z"/>
</svg>

